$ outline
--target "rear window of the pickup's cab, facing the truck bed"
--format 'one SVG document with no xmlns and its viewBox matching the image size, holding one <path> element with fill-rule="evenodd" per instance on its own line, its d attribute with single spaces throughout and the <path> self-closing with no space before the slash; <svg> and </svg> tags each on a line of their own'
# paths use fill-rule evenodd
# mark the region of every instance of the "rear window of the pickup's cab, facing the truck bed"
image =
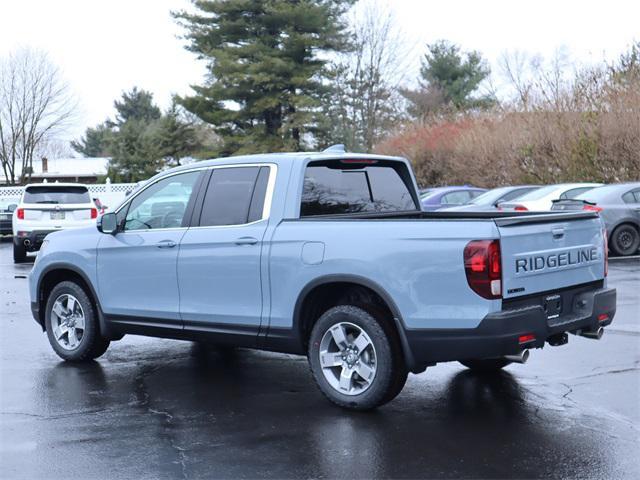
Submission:
<svg viewBox="0 0 640 480">
<path fill-rule="evenodd" d="M 419 210 L 405 164 L 322 160 L 305 170 L 301 217 Z"/>
</svg>

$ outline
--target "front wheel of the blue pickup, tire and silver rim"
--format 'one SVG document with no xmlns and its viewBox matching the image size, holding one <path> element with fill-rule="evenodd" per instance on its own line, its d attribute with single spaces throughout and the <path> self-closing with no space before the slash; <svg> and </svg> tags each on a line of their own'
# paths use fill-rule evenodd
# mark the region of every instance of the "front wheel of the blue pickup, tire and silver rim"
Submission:
<svg viewBox="0 0 640 480">
<path fill-rule="evenodd" d="M 100 335 L 98 317 L 89 296 L 72 281 L 60 282 L 49 294 L 45 328 L 51 347 L 64 360 L 93 360 L 109 347 L 109 340 Z"/>
</svg>

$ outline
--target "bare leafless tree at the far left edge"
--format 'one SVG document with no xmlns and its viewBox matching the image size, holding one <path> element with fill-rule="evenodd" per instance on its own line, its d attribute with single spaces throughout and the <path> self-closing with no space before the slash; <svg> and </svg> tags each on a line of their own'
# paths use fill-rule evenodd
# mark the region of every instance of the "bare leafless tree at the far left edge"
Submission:
<svg viewBox="0 0 640 480">
<path fill-rule="evenodd" d="M 30 179 L 34 156 L 69 126 L 75 110 L 45 53 L 23 49 L 0 59 L 0 162 L 9 184 Z"/>
</svg>

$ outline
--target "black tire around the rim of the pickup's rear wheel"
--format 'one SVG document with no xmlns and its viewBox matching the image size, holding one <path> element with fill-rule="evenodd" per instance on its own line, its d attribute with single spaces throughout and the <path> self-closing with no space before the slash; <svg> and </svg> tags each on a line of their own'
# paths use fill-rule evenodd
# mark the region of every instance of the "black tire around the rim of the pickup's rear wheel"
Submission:
<svg viewBox="0 0 640 480">
<path fill-rule="evenodd" d="M 325 378 L 320 365 L 320 343 L 324 334 L 337 323 L 359 327 L 370 338 L 376 354 L 376 372 L 369 387 L 357 395 L 339 392 Z M 339 305 L 326 311 L 315 323 L 309 337 L 311 373 L 320 391 L 333 403 L 351 410 L 370 410 L 393 400 L 407 380 L 407 369 L 399 342 L 388 327 L 362 308 Z"/>
</svg>

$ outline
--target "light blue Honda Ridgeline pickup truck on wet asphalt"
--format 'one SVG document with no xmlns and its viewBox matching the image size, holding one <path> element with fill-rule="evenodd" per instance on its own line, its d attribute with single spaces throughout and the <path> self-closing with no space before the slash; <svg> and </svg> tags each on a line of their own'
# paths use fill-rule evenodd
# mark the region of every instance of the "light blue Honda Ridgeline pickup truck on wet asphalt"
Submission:
<svg viewBox="0 0 640 480">
<path fill-rule="evenodd" d="M 438 362 L 600 338 L 606 277 L 596 212 L 423 212 L 406 159 L 331 148 L 162 172 L 50 234 L 29 290 L 65 360 L 125 334 L 307 355 L 329 400 L 369 409 Z"/>
</svg>

